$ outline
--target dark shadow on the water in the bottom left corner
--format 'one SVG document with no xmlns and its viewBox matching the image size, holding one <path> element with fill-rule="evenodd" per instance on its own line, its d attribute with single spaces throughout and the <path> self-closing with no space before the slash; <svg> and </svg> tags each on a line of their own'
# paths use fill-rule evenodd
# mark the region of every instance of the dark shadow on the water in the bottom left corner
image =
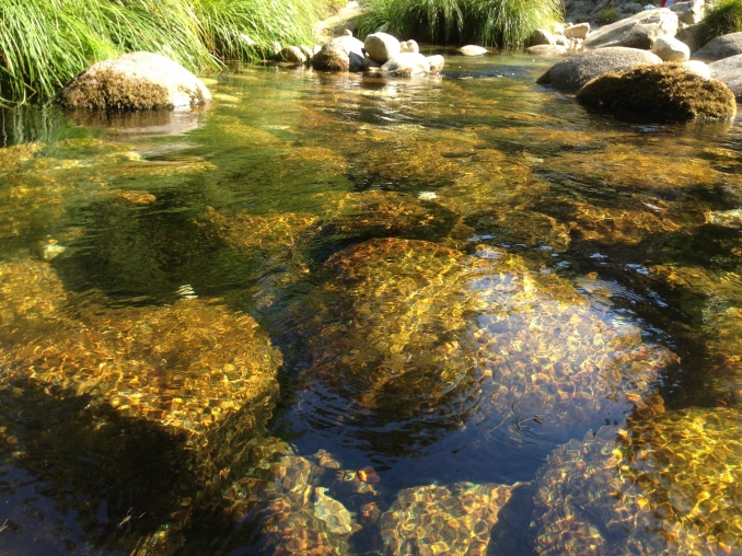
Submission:
<svg viewBox="0 0 742 556">
<path fill-rule="evenodd" d="M 0 548 L 12 554 L 62 553 L 60 542 L 78 554 L 130 554 L 197 491 L 184 435 L 32 380 L 5 383 L 0 404 L 0 484 L 9 500 L 16 488 L 33 489 L 33 498 L 3 508 L 13 534 L 0 536 Z M 44 506 L 45 499 L 54 503 L 48 519 L 43 511 L 30 513 L 33 500 Z"/>
</svg>

